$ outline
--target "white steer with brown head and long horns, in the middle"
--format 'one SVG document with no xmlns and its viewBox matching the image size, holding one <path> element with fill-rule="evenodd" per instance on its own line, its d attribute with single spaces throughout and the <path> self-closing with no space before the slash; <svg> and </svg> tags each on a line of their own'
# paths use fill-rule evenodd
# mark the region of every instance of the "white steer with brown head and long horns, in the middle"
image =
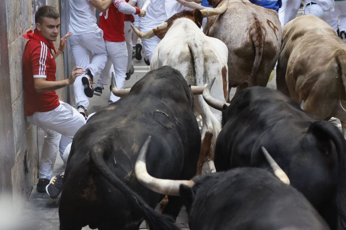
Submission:
<svg viewBox="0 0 346 230">
<path fill-rule="evenodd" d="M 228 99 L 226 45 L 206 36 L 200 29 L 203 17 L 223 13 L 227 4 L 215 9 L 183 11 L 175 14 L 153 30 L 134 31 L 142 39 L 157 36 L 162 40 L 154 50 L 150 69 L 171 66 L 179 70 L 191 86 L 203 87 L 216 77 L 211 94 L 226 102 Z M 213 159 L 216 138 L 221 130 L 221 113 L 208 106 L 202 95 L 194 96 L 194 112 L 202 116 L 202 148 L 197 172 L 200 174 L 206 159 Z M 211 162 L 210 162 L 211 163 Z M 213 164 L 211 163 L 212 167 Z"/>
</svg>

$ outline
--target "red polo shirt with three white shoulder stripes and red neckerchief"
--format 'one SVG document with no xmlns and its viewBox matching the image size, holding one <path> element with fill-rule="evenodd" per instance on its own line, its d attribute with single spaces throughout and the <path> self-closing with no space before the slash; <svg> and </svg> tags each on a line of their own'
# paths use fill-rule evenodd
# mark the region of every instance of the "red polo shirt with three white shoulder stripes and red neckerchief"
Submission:
<svg viewBox="0 0 346 230">
<path fill-rule="evenodd" d="M 23 37 L 29 40 L 22 60 L 24 114 L 31 116 L 35 112 L 51 111 L 60 105 L 55 90 L 37 93 L 34 87 L 34 78 L 55 81 L 56 63 L 51 51 L 55 52 L 55 48 L 53 42 L 48 42 L 36 29 Z"/>
</svg>

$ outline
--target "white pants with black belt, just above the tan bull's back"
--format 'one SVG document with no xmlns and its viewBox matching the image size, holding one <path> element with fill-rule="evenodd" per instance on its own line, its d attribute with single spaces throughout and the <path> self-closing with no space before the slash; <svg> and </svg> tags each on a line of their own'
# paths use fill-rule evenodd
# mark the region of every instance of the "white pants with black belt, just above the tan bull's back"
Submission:
<svg viewBox="0 0 346 230">
<path fill-rule="evenodd" d="M 335 31 L 338 29 L 338 18 L 334 11 L 334 8 L 329 9 L 328 11 L 323 10 L 319 4 L 310 4 L 309 6 L 305 5 L 304 15 L 315 15 L 316 17 L 327 22 Z"/>
</svg>

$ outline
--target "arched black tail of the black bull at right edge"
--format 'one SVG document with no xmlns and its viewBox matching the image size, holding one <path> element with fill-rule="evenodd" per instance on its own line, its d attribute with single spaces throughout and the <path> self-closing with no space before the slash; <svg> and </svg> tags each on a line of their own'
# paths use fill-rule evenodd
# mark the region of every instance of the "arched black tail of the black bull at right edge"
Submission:
<svg viewBox="0 0 346 230">
<path fill-rule="evenodd" d="M 335 204 L 337 205 L 337 230 L 346 229 L 346 142 L 342 133 L 328 121 L 313 122 L 310 131 L 327 136 L 333 141 L 338 154 L 338 186 Z"/>
</svg>

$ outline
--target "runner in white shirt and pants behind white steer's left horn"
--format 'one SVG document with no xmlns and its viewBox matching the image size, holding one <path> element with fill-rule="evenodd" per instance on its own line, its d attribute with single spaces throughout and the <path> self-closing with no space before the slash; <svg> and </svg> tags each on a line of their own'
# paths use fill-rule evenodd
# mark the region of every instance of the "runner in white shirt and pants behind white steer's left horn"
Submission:
<svg viewBox="0 0 346 230">
<path fill-rule="evenodd" d="M 145 0 L 130 0 L 129 4 L 131 6 L 137 4 L 139 8 L 142 8 L 144 1 Z M 142 32 L 148 32 L 166 20 L 167 14 L 165 9 L 165 0 L 151 0 L 151 4 L 146 11 L 145 17 L 139 17 L 139 30 Z M 142 41 L 149 60 L 151 60 L 153 52 L 159 42 L 160 39 L 157 36 Z"/>
</svg>

